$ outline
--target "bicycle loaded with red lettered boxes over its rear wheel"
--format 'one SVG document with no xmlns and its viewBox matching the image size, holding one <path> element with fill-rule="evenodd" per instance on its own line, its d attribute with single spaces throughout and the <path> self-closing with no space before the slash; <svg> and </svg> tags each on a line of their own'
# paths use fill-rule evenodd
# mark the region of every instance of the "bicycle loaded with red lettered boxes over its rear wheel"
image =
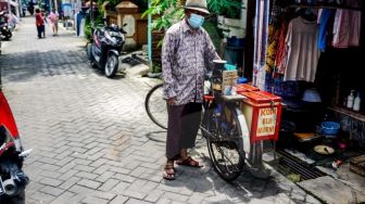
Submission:
<svg viewBox="0 0 365 204">
<path fill-rule="evenodd" d="M 200 126 L 213 167 L 227 181 L 236 179 L 243 169 L 254 177 L 267 178 L 270 173 L 263 165 L 263 142 L 270 140 L 275 145 L 278 139 L 281 99 L 247 84 L 235 86 L 237 94 L 225 94 L 222 67 L 217 65 L 207 75 L 210 87 L 203 98 Z M 160 100 L 159 104 L 154 100 Z M 163 103 L 162 85 L 158 85 L 149 91 L 144 105 L 150 118 L 166 128 Z M 152 104 L 158 104 L 154 112 Z"/>
</svg>

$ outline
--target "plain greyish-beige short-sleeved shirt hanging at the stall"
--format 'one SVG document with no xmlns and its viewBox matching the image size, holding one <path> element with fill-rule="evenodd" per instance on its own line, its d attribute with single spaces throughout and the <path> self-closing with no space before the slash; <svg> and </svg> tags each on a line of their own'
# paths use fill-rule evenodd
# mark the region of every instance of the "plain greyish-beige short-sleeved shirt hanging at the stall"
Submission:
<svg viewBox="0 0 365 204">
<path fill-rule="evenodd" d="M 319 59 L 316 46 L 318 25 L 301 16 L 290 21 L 286 46 L 288 49 L 285 80 L 314 81 Z"/>
</svg>

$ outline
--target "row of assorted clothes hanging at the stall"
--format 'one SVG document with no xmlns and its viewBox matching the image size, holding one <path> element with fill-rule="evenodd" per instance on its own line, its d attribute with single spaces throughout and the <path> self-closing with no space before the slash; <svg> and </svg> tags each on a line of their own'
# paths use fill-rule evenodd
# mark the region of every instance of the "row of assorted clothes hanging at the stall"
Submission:
<svg viewBox="0 0 365 204">
<path fill-rule="evenodd" d="M 256 1 L 253 60 L 253 84 L 266 91 L 281 87 L 285 93 L 287 86 L 281 84 L 290 80 L 314 82 L 322 52 L 360 46 L 358 0 L 343 1 L 338 9 L 270 2 L 268 12 L 263 0 Z"/>
</svg>

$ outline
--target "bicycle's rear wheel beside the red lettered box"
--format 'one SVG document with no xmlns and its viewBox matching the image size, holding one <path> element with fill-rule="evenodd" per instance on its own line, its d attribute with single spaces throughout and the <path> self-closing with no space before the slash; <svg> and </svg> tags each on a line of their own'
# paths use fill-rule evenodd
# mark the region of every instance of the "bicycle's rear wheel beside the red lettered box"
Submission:
<svg viewBox="0 0 365 204">
<path fill-rule="evenodd" d="M 202 131 L 206 138 L 207 150 L 215 171 L 226 181 L 240 176 L 244 165 L 242 152 L 242 131 L 237 113 L 230 107 L 225 112 L 230 119 L 219 116 L 213 110 L 204 114 Z M 226 124 L 226 125 L 222 125 Z"/>
</svg>

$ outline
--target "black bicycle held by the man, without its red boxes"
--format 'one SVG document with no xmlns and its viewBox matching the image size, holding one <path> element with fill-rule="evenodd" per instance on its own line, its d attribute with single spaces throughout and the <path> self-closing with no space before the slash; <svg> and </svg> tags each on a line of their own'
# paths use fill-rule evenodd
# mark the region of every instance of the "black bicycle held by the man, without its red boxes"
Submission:
<svg viewBox="0 0 365 204">
<path fill-rule="evenodd" d="M 213 89 L 215 77 L 212 73 L 206 75 L 205 81 L 210 81 L 210 85 L 204 90 L 200 125 L 215 171 L 226 181 L 238 178 L 244 167 L 254 177 L 269 177 L 269 170 L 262 163 L 263 142 L 251 141 L 251 124 L 247 123 L 241 111 L 248 99 L 241 94 L 225 95 L 221 90 Z M 162 84 L 148 92 L 144 106 L 151 120 L 166 129 L 167 107 L 162 97 Z"/>
</svg>

